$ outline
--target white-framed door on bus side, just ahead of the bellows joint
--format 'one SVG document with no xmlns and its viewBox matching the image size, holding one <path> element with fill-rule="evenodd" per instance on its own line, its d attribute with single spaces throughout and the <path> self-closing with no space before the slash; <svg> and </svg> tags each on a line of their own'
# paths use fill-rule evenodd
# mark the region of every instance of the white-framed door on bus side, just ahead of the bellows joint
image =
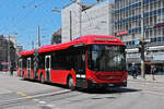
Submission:
<svg viewBox="0 0 164 109">
<path fill-rule="evenodd" d="M 50 74 L 50 69 L 51 68 L 51 57 L 50 56 L 46 56 L 45 57 L 45 81 L 46 82 L 51 82 L 51 74 Z"/>
</svg>

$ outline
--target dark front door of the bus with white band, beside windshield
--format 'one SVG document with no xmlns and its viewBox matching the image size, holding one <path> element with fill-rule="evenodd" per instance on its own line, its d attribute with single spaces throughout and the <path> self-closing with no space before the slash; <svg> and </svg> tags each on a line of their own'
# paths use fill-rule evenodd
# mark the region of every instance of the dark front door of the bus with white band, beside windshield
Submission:
<svg viewBox="0 0 164 109">
<path fill-rule="evenodd" d="M 86 74 L 85 74 L 85 51 L 82 50 L 77 55 L 75 64 L 75 86 L 86 87 Z"/>
</svg>

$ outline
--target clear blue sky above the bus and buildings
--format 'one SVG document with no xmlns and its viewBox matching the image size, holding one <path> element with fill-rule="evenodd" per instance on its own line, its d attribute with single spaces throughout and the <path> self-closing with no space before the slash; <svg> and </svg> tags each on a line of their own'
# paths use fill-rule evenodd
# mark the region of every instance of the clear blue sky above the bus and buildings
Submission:
<svg viewBox="0 0 164 109">
<path fill-rule="evenodd" d="M 96 0 L 82 0 L 90 4 Z M 105 0 L 104 0 L 105 1 Z M 49 45 L 54 32 L 61 27 L 61 10 L 71 0 L 0 0 L 0 35 L 14 36 L 16 45 L 25 50 L 36 47 L 37 26 L 40 28 L 42 45 Z"/>
</svg>

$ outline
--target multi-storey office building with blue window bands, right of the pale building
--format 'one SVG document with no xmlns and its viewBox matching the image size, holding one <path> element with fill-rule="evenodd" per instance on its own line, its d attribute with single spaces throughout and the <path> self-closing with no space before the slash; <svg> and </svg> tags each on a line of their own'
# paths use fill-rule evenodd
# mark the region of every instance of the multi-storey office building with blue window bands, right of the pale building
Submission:
<svg viewBox="0 0 164 109">
<path fill-rule="evenodd" d="M 127 45 L 129 63 L 140 63 L 137 41 L 144 37 L 145 61 L 164 66 L 164 0 L 115 0 L 114 17 L 114 33 Z"/>
</svg>

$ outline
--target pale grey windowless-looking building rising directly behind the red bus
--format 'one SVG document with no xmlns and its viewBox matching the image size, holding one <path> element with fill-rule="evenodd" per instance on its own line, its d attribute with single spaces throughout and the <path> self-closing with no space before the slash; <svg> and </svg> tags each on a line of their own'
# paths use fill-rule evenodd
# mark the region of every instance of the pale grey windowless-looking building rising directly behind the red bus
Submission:
<svg viewBox="0 0 164 109">
<path fill-rule="evenodd" d="M 61 41 L 84 35 L 114 35 L 114 4 L 109 0 L 95 5 L 73 2 L 61 11 Z"/>
</svg>

